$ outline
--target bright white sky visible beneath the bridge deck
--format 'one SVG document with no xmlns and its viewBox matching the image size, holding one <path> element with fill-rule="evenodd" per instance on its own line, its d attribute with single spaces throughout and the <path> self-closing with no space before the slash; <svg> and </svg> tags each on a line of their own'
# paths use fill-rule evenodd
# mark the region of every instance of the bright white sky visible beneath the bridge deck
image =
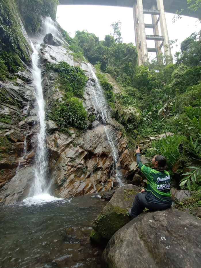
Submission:
<svg viewBox="0 0 201 268">
<path fill-rule="evenodd" d="M 176 51 L 179 51 L 181 42 L 193 32 L 198 32 L 201 24 L 198 19 L 186 16 L 173 23 L 174 14 L 166 13 L 165 16 L 169 39 L 178 39 L 171 51 L 172 55 L 174 55 Z M 123 42 L 135 45 L 132 8 L 95 5 L 58 5 L 57 8 L 57 22 L 71 37 L 74 37 L 76 30 L 88 30 L 88 32 L 98 36 L 99 40 L 104 40 L 105 35 L 109 35 L 112 32 L 110 25 L 118 20 L 122 23 L 121 35 Z M 151 15 L 144 15 L 144 20 L 145 23 L 152 23 Z M 146 29 L 146 34 L 153 34 L 153 30 Z M 147 41 L 147 45 L 148 47 L 155 47 L 154 41 L 151 40 Z M 149 57 L 153 58 L 155 56 L 156 53 L 149 53 Z"/>
</svg>

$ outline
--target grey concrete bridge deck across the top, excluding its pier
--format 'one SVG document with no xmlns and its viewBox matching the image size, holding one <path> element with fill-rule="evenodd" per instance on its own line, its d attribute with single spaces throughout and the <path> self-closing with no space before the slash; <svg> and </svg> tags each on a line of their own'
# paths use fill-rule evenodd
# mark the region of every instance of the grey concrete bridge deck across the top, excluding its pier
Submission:
<svg viewBox="0 0 201 268">
<path fill-rule="evenodd" d="M 59 0 L 61 5 L 109 5 L 118 7 L 133 7 L 134 0 Z M 184 9 L 183 15 L 201 18 L 201 11 L 189 12 L 186 0 L 163 0 L 165 12 L 175 13 Z M 151 9 L 153 1 L 143 0 L 143 7 Z"/>
</svg>

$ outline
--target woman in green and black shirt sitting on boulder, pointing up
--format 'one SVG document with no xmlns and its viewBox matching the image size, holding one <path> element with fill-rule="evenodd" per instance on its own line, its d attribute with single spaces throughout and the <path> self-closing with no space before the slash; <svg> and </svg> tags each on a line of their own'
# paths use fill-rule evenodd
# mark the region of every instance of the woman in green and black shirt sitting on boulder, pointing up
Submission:
<svg viewBox="0 0 201 268">
<path fill-rule="evenodd" d="M 155 155 L 152 159 L 153 168 L 142 164 L 140 159 L 140 149 L 135 151 L 137 165 L 147 178 L 147 188 L 137 193 L 133 201 L 133 206 L 129 209 L 129 215 L 134 219 L 143 212 L 145 208 L 149 210 L 164 210 L 172 205 L 170 192 L 170 175 L 166 169 L 167 160 L 162 155 Z"/>
</svg>

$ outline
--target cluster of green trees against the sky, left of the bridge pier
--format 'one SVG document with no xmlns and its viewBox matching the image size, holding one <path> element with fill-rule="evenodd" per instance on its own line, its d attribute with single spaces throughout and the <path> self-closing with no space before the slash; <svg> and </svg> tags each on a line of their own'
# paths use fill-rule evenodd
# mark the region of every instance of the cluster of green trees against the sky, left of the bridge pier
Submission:
<svg viewBox="0 0 201 268">
<path fill-rule="evenodd" d="M 121 42 L 120 22 L 112 24 L 113 35 L 106 35 L 99 41 L 93 33 L 76 31 L 73 40 L 66 36 L 70 49 L 75 53 L 83 53 L 92 64 L 100 63 L 100 69 L 108 72 L 118 82 L 131 85 L 137 65 L 137 50 L 133 43 Z"/>
</svg>

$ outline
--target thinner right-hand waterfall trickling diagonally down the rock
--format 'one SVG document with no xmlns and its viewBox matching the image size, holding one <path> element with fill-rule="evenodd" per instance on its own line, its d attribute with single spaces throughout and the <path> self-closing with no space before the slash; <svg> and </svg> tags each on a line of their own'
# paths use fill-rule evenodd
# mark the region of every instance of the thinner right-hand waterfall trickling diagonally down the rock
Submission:
<svg viewBox="0 0 201 268">
<path fill-rule="evenodd" d="M 98 79 L 91 67 L 91 64 L 88 63 L 90 72 L 92 74 L 93 80 L 95 81 L 95 87 L 93 86 L 93 81 L 91 81 L 91 79 L 89 78 L 88 81 L 88 87 L 92 89 L 93 94 L 94 94 L 94 109 L 95 109 L 95 114 L 96 114 L 96 120 L 101 120 L 102 124 L 104 126 L 105 129 L 105 133 L 108 139 L 108 142 L 110 144 L 110 148 L 111 148 L 111 153 L 112 153 L 112 157 L 114 160 L 114 168 L 113 168 L 113 172 L 115 170 L 115 177 L 116 177 L 116 181 L 118 182 L 119 186 L 124 185 L 123 182 L 121 181 L 121 173 L 120 171 L 117 169 L 117 163 L 118 163 L 118 150 L 114 144 L 114 140 L 112 135 L 110 135 L 110 132 L 108 131 L 108 128 L 106 127 L 106 125 L 108 124 L 108 120 L 109 120 L 109 114 L 107 112 L 107 103 L 106 103 L 106 99 L 104 97 L 103 94 L 103 90 L 98 82 Z"/>
</svg>

